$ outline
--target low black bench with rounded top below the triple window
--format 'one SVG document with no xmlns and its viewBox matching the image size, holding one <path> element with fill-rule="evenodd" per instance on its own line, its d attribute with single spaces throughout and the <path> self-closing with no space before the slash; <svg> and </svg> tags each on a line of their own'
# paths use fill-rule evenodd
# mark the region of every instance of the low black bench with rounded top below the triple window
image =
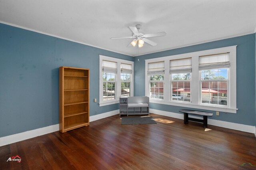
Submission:
<svg viewBox="0 0 256 170">
<path fill-rule="evenodd" d="M 212 113 L 209 112 L 201 112 L 201 111 L 193 111 L 193 110 L 186 110 L 186 109 L 181 109 L 180 112 L 184 113 L 184 124 L 188 124 L 188 121 L 194 121 L 194 122 L 200 122 L 204 123 L 204 128 L 207 128 L 207 117 L 212 116 Z M 203 116 L 204 119 L 195 119 L 188 117 L 188 114 L 192 115 L 200 115 Z"/>
</svg>

